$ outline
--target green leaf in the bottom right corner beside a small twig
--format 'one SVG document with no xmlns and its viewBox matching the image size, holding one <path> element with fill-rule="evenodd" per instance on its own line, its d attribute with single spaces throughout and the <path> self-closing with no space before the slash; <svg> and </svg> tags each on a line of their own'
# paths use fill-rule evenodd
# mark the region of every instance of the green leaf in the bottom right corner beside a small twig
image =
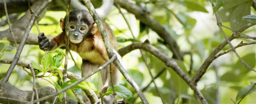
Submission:
<svg viewBox="0 0 256 104">
<path fill-rule="evenodd" d="M 247 85 L 245 87 L 243 87 L 236 95 L 236 101 L 239 101 L 243 96 L 245 96 L 245 94 L 253 87 L 253 85 Z M 248 93 L 251 94 L 253 92 L 256 92 L 256 86 L 253 87 L 253 89 Z"/>
</svg>

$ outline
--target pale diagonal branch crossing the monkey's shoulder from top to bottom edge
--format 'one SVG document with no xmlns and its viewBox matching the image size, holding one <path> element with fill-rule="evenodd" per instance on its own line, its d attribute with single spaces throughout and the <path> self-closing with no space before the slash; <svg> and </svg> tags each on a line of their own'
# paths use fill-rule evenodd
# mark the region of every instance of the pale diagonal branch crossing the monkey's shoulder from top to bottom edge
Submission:
<svg viewBox="0 0 256 104">
<path fill-rule="evenodd" d="M 106 47 L 106 50 L 108 52 L 108 57 L 111 57 L 112 55 L 115 55 L 113 53 L 112 47 L 110 45 L 110 42 L 108 40 L 108 36 L 107 33 L 102 25 L 102 21 L 100 20 L 98 14 L 96 13 L 93 5 L 91 4 L 90 0 L 83 0 L 85 3 L 85 6 L 88 8 L 90 14 L 92 15 L 95 23 L 97 24 L 101 35 L 102 35 L 102 39 L 104 42 L 104 45 Z M 119 71 L 122 73 L 122 75 L 125 77 L 125 79 L 131 84 L 131 86 L 135 89 L 135 91 L 138 93 L 138 95 L 140 96 L 142 102 L 144 104 L 148 104 L 148 101 L 146 99 L 146 97 L 143 95 L 142 91 L 139 89 L 139 86 L 135 83 L 135 81 L 131 78 L 131 76 L 128 75 L 128 73 L 125 71 L 124 67 L 120 64 L 119 60 L 115 60 L 114 61 L 115 66 L 119 69 Z"/>
</svg>

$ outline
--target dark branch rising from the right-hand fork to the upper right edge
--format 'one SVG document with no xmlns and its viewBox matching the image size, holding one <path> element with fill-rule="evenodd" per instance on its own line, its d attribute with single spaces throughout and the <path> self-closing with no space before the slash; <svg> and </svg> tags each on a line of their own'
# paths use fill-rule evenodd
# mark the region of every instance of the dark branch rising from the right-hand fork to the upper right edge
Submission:
<svg viewBox="0 0 256 104">
<path fill-rule="evenodd" d="M 246 29 L 248 29 L 249 27 L 253 26 L 254 24 L 247 24 L 243 27 L 241 27 L 238 32 L 243 32 Z M 239 36 L 244 36 L 244 35 L 239 35 L 239 33 L 234 32 L 229 38 L 229 41 L 232 41 L 235 38 L 238 38 Z M 223 43 L 221 43 L 212 53 L 211 55 L 209 55 L 207 57 L 207 59 L 205 59 L 204 63 L 202 64 L 202 66 L 199 68 L 199 70 L 195 73 L 194 77 L 192 78 L 191 83 L 192 84 L 197 84 L 197 82 L 202 78 L 202 76 L 204 75 L 204 73 L 207 71 L 207 68 L 210 66 L 210 64 L 212 63 L 214 56 L 218 54 L 218 52 L 224 48 L 224 46 L 226 46 L 228 44 L 227 40 L 225 40 Z"/>
</svg>

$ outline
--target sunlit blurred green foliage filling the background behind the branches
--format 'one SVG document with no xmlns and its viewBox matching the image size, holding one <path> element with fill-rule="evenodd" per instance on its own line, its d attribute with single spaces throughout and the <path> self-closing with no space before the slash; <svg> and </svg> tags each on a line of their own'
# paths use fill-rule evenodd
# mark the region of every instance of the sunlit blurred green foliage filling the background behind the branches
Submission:
<svg viewBox="0 0 256 104">
<path fill-rule="evenodd" d="M 251 0 L 134 0 L 136 5 L 143 7 L 147 10 L 147 14 L 154 20 L 157 20 L 161 26 L 163 26 L 167 32 L 174 38 L 182 51 L 189 51 L 192 53 L 193 65 L 191 74 L 189 74 L 191 57 L 190 55 L 184 55 L 183 61 L 177 61 L 177 64 L 181 69 L 192 78 L 198 69 L 201 67 L 205 59 L 215 50 L 221 43 L 225 41 L 225 38 L 219 28 L 216 25 L 215 13 L 218 13 L 219 18 L 223 25 L 232 29 L 239 30 L 242 26 L 251 23 L 256 24 L 255 9 L 253 8 L 253 2 Z M 94 5 L 101 5 L 102 2 L 95 1 Z M 212 8 L 212 4 L 214 7 Z M 122 11 L 125 11 L 122 9 Z M 57 35 L 62 32 L 59 27 L 59 19 L 65 17 L 63 11 L 47 11 L 45 16 L 38 22 L 41 32 L 49 35 Z M 146 15 L 146 14 L 145 14 Z M 21 17 L 20 14 L 19 17 Z M 119 42 L 119 49 L 125 47 L 132 42 L 144 42 L 146 39 L 150 43 L 159 49 L 161 52 L 172 58 L 173 54 L 170 51 L 170 47 L 166 45 L 159 34 L 155 33 L 151 28 L 142 23 L 140 20 L 136 20 L 133 14 L 126 13 L 125 17 L 128 19 L 132 27 L 132 32 L 136 38 L 131 36 L 131 32 L 128 29 L 123 17 L 119 14 L 118 10 L 114 8 L 105 21 L 110 25 L 113 30 L 117 41 Z M 4 17 L 1 21 L 5 20 Z M 152 23 L 153 24 L 153 23 Z M 1 26 L 3 29 L 9 27 Z M 230 29 L 223 28 L 228 37 L 233 33 Z M 37 33 L 35 26 L 32 27 L 31 33 Z M 251 37 L 255 37 L 255 26 L 247 29 L 243 32 Z M 241 41 L 244 43 L 254 42 L 252 39 L 236 38 L 231 43 L 236 46 Z M 10 43 L 7 38 L 0 40 L 0 58 L 6 60 L 12 60 L 15 55 L 15 47 Z M 226 45 L 220 52 L 230 49 L 229 45 Z M 64 55 L 61 52 L 63 49 L 57 49 L 55 51 L 45 54 L 36 45 L 25 45 L 20 61 L 31 62 L 32 67 L 36 69 L 37 76 L 43 75 L 43 78 L 49 78 L 52 84 L 44 82 L 37 78 L 38 86 L 51 86 L 57 91 L 67 87 L 70 84 L 75 83 L 77 80 L 68 80 L 63 82 L 62 70 L 64 67 L 63 58 Z M 253 69 L 256 68 L 256 56 L 255 56 L 255 44 L 239 47 L 236 49 L 241 58 Z M 73 72 L 75 75 L 80 76 L 80 66 L 82 59 L 80 56 L 71 51 L 73 59 L 69 57 L 68 71 Z M 200 103 L 195 97 L 193 90 L 189 88 L 189 85 L 180 78 L 172 68 L 165 65 L 164 62 L 157 57 L 146 53 L 147 63 L 149 63 L 150 71 L 153 76 L 156 76 L 162 69 L 166 69 L 155 79 L 157 87 L 160 93 L 163 95 L 164 100 L 167 103 Z M 122 58 L 122 65 L 126 71 L 138 84 L 140 89 L 145 88 L 150 82 L 151 77 L 148 69 L 145 66 L 144 61 L 138 50 L 134 50 Z M 5 74 L 9 65 L 0 64 L 0 74 Z M 37 71 L 38 70 L 38 71 Z M 98 73 L 99 74 L 99 73 Z M 71 89 L 87 89 L 100 92 L 101 85 L 96 85 L 98 80 L 98 74 L 91 77 L 92 82 L 81 82 Z M 0 76 L 3 78 L 3 76 Z M 21 90 L 31 90 L 27 88 L 32 87 L 32 77 L 22 70 L 21 67 L 15 67 L 14 72 L 11 74 L 9 83 L 11 85 L 18 86 Z M 225 55 L 218 57 L 212 61 L 212 64 L 208 67 L 207 72 L 201 78 L 197 84 L 197 88 L 201 90 L 202 94 L 206 97 L 208 103 L 217 103 L 217 98 L 220 97 L 221 101 L 218 103 L 233 103 L 231 99 L 235 99 L 237 103 L 253 86 L 249 85 L 250 82 L 255 83 L 255 73 L 244 66 L 244 64 L 236 57 L 231 51 Z M 64 83 L 64 84 L 63 84 Z M 96 87 L 97 86 L 97 87 Z M 218 88 L 218 90 L 217 90 Z M 116 94 L 119 98 L 125 98 L 126 102 L 141 103 L 137 97 L 136 91 L 131 85 L 124 79 L 121 79 L 121 83 L 118 86 L 114 86 Z M 241 103 L 255 103 L 255 89 L 253 88 Z M 216 93 L 220 96 L 217 96 Z M 81 98 L 81 91 L 77 91 Z M 161 99 L 155 90 L 154 84 L 150 84 L 143 92 L 146 95 L 149 103 L 161 103 Z M 251 94 L 253 93 L 253 94 Z M 110 88 L 104 95 L 113 94 L 113 89 Z M 73 97 L 73 94 L 67 96 Z M 62 100 L 63 93 L 58 95 L 58 98 Z M 75 100 L 75 97 L 73 97 Z"/>
</svg>

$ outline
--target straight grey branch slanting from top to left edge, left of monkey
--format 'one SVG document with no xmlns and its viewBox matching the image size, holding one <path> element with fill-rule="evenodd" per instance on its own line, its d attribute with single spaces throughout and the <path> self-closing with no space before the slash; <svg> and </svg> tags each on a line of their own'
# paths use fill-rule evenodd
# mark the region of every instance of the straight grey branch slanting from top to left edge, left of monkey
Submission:
<svg viewBox="0 0 256 104">
<path fill-rule="evenodd" d="M 20 53 L 21 53 L 21 51 L 22 51 L 22 49 L 23 49 L 23 47 L 24 47 L 24 45 L 25 45 L 26 39 L 27 39 L 27 37 L 28 37 L 28 34 L 29 34 L 29 32 L 30 32 L 30 30 L 31 30 L 31 28 L 32 28 L 32 26 L 33 26 L 35 20 L 37 19 L 38 15 L 46 8 L 46 6 L 47 6 L 50 2 L 51 2 L 51 0 L 45 0 L 45 1 L 38 7 L 38 9 L 35 11 L 35 13 L 32 14 L 31 19 L 30 19 L 30 21 L 29 21 L 29 23 L 28 23 L 28 26 L 27 26 L 27 28 L 26 28 L 24 34 L 23 34 L 23 38 L 22 38 L 22 40 L 21 40 L 21 43 L 20 43 L 20 45 L 19 45 L 19 47 L 18 47 L 18 49 L 17 49 L 17 52 L 16 52 L 16 54 L 15 54 L 15 56 L 14 56 L 14 59 L 13 59 L 11 65 L 10 65 L 8 71 L 6 72 L 6 76 L 5 76 L 5 77 L 3 78 L 3 80 L 0 82 L 0 87 L 2 87 L 2 86 L 9 80 L 9 77 L 10 77 L 10 75 L 11 75 L 11 73 L 12 73 L 12 71 L 13 71 L 15 65 L 16 65 L 16 63 L 18 62 L 18 60 L 19 60 L 19 58 L 20 58 Z"/>
</svg>

